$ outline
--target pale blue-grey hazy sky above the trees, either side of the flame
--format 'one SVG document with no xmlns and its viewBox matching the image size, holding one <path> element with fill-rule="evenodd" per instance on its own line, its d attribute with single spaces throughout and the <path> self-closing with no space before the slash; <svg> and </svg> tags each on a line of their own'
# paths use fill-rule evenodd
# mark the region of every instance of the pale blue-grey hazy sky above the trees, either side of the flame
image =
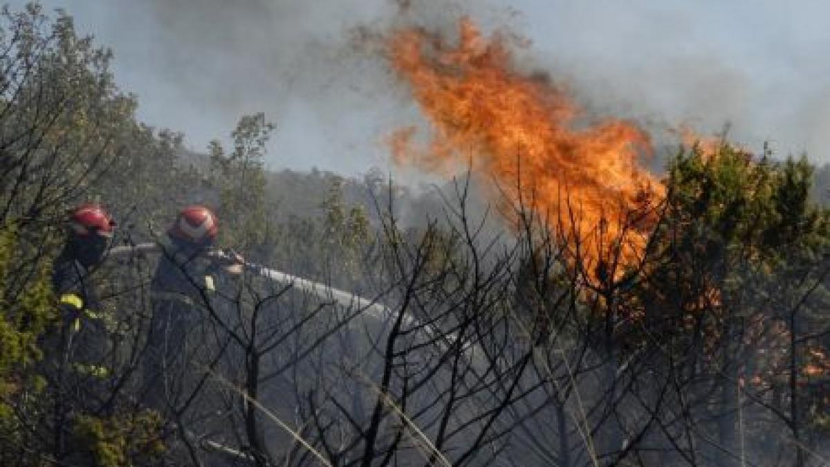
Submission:
<svg viewBox="0 0 830 467">
<path fill-rule="evenodd" d="M 264 111 L 278 129 L 269 165 L 358 175 L 394 170 L 382 140 L 417 122 L 378 60 L 349 30 L 468 14 L 532 44 L 549 71 L 594 111 L 649 128 L 687 123 L 784 155 L 830 161 L 830 3 L 769 0 L 47 0 L 115 52 L 115 76 L 139 118 L 181 130 L 204 150 L 238 117 Z M 11 2 L 19 7 L 22 2 Z"/>
</svg>

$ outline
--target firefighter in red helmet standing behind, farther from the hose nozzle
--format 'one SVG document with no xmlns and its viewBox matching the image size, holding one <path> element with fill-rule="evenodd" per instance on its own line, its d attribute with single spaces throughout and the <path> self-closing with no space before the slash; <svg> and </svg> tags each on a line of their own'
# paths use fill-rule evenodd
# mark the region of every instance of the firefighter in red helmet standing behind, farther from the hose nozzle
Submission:
<svg viewBox="0 0 830 467">
<path fill-rule="evenodd" d="M 99 204 L 82 204 L 67 219 L 66 243 L 54 263 L 58 326 L 45 337 L 44 376 L 55 396 L 55 455 L 67 452 L 66 425 L 74 410 L 95 404 L 109 372 L 102 365 L 106 332 L 90 273 L 105 258 L 115 222 Z"/>
</svg>

